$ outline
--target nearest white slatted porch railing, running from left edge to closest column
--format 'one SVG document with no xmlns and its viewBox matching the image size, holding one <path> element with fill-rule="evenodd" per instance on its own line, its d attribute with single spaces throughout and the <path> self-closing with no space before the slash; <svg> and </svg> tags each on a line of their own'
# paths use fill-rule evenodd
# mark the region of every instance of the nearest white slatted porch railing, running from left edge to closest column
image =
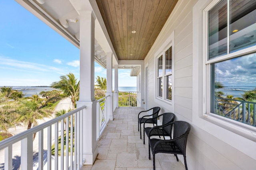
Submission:
<svg viewBox="0 0 256 170">
<path fill-rule="evenodd" d="M 82 118 L 85 111 L 84 106 L 80 107 L 1 141 L 0 151 L 4 149 L 4 169 L 12 170 L 12 159 L 16 156 L 12 152 L 18 149 L 20 149 L 20 156 L 16 158 L 20 157 L 18 166 L 22 170 L 32 170 L 33 166 L 43 170 L 46 164 L 48 170 L 80 169 L 84 163 Z M 35 140 L 38 143 L 33 142 L 34 133 L 38 137 L 38 140 Z M 20 147 L 17 147 L 16 143 L 20 143 Z"/>
</svg>

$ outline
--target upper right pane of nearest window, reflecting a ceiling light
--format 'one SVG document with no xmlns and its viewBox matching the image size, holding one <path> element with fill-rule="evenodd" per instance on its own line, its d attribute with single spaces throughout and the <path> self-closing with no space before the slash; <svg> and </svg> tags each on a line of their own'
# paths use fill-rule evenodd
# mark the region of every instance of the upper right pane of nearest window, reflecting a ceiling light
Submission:
<svg viewBox="0 0 256 170">
<path fill-rule="evenodd" d="M 256 44 L 256 0 L 230 0 L 230 53 Z"/>
</svg>

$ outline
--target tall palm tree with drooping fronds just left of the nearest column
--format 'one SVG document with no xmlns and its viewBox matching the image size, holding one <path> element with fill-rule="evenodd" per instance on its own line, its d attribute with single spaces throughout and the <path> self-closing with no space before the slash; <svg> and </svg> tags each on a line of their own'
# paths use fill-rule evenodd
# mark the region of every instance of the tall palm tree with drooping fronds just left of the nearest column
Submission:
<svg viewBox="0 0 256 170">
<path fill-rule="evenodd" d="M 60 76 L 60 81 L 53 82 L 51 88 L 62 90 L 62 92 L 71 99 L 73 108 L 76 107 L 76 101 L 79 99 L 79 85 L 80 82 L 73 73 L 65 76 Z"/>
</svg>

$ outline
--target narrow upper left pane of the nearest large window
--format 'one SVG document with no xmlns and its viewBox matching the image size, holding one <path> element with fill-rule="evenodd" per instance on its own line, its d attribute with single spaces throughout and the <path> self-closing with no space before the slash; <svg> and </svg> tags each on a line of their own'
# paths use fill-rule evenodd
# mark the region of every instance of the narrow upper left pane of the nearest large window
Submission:
<svg viewBox="0 0 256 170">
<path fill-rule="evenodd" d="M 227 54 L 227 0 L 208 12 L 208 59 Z"/>
</svg>

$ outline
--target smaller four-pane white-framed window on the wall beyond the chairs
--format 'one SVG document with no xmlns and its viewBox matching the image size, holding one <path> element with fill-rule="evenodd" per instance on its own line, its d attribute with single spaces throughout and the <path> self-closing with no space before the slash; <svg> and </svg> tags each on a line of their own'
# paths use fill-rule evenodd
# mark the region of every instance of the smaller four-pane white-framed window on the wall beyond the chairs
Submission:
<svg viewBox="0 0 256 170">
<path fill-rule="evenodd" d="M 157 97 L 172 100 L 172 46 L 157 57 Z"/>
</svg>

